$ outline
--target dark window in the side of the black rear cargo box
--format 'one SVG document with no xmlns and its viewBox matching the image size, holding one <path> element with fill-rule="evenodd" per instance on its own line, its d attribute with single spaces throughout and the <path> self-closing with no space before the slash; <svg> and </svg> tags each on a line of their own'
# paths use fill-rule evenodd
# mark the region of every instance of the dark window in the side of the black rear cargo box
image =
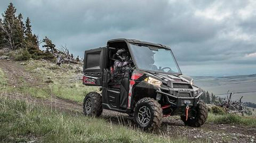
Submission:
<svg viewBox="0 0 256 143">
<path fill-rule="evenodd" d="M 97 53 L 86 54 L 86 69 L 95 68 L 100 69 L 100 51 Z"/>
</svg>

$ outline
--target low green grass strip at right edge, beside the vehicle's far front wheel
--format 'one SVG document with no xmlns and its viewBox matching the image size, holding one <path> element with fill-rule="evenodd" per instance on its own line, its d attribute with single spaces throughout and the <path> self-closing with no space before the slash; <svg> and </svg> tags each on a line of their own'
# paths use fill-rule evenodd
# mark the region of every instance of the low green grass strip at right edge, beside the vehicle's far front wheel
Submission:
<svg viewBox="0 0 256 143">
<path fill-rule="evenodd" d="M 249 127 L 256 127 L 256 118 L 251 116 L 239 116 L 236 114 L 208 114 L 208 122 L 223 124 L 240 124 Z"/>
</svg>

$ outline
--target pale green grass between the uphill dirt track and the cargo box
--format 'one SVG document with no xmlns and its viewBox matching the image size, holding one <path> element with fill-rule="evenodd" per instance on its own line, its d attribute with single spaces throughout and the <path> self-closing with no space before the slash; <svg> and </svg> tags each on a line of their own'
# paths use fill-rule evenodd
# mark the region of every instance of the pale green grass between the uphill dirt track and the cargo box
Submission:
<svg viewBox="0 0 256 143">
<path fill-rule="evenodd" d="M 84 96 L 91 91 L 99 92 L 98 87 L 85 86 L 82 84 L 81 68 L 79 64 L 62 64 L 57 66 L 53 62 L 41 60 L 28 60 L 23 63 L 26 70 L 33 73 L 44 86 L 43 90 L 36 90 L 34 87 L 26 88 L 28 94 L 35 97 L 49 97 L 48 94 L 82 103 Z M 45 89 L 49 91 L 44 92 Z M 23 92 L 24 93 L 24 92 Z"/>
</svg>

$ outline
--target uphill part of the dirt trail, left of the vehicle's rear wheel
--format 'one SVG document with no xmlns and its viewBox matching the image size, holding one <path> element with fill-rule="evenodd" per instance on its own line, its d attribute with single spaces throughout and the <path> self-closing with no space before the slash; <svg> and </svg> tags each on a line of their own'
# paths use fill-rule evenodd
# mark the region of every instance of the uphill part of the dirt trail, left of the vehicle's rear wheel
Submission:
<svg viewBox="0 0 256 143">
<path fill-rule="evenodd" d="M 0 68 L 5 72 L 5 75 L 8 78 L 8 85 L 12 86 L 13 88 L 20 87 L 22 84 L 24 84 L 22 80 L 19 80 L 21 77 L 29 85 L 40 86 L 42 84 L 40 83 L 40 79 L 37 79 L 36 77 L 33 77 L 31 73 L 26 72 L 24 66 L 20 65 L 19 62 L 0 60 Z M 51 98 L 49 99 L 38 99 L 26 95 L 19 95 L 19 97 L 16 96 L 17 94 L 13 95 L 12 98 L 26 98 L 32 102 L 38 102 L 40 104 L 48 105 L 52 108 L 57 108 L 68 112 L 82 112 L 81 105 L 74 101 L 61 99 L 54 95 L 51 95 Z"/>
</svg>

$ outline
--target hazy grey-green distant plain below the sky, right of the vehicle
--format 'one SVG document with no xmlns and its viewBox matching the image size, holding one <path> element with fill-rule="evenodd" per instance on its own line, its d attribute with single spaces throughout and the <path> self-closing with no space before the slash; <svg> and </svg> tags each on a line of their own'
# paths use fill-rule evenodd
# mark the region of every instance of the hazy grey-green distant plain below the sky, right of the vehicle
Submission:
<svg viewBox="0 0 256 143">
<path fill-rule="evenodd" d="M 256 74 L 225 77 L 193 77 L 194 84 L 216 96 L 227 97 L 233 92 L 232 99 L 243 96 L 243 102 L 256 103 Z"/>
</svg>

